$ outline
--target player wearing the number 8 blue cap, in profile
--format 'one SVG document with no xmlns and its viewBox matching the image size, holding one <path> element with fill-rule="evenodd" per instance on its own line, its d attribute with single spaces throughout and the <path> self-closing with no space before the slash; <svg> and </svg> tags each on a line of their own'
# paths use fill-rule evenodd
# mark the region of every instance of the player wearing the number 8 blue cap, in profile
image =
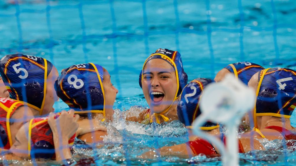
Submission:
<svg viewBox="0 0 296 166">
<path fill-rule="evenodd" d="M 55 88 L 58 97 L 73 108 L 81 120 L 87 120 L 88 123 L 91 123 L 89 119 L 97 122 L 112 121 L 118 90 L 102 66 L 93 63 L 70 66 L 62 71 L 55 82 Z M 78 138 L 92 143 L 101 141 L 101 136 L 106 134 L 106 130 L 98 130 Z"/>
</svg>

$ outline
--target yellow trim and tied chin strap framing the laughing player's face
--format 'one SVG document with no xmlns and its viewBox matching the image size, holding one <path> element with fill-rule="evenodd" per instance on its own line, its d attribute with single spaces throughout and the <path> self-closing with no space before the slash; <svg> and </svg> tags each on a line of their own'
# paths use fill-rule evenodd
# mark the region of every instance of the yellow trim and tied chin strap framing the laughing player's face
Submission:
<svg viewBox="0 0 296 166">
<path fill-rule="evenodd" d="M 164 110 L 163 112 L 161 112 L 161 113 L 154 113 L 155 118 L 156 118 L 156 122 L 158 121 L 157 123 L 160 123 L 160 122 L 159 122 L 159 119 L 158 119 L 158 117 L 157 117 L 157 115 L 160 115 L 160 116 L 163 118 L 163 120 L 166 121 L 166 122 L 169 120 L 169 119 L 168 119 L 167 117 L 165 117 L 163 114 L 166 113 L 166 112 L 170 109 L 170 107 L 173 105 L 173 103 L 175 102 L 175 100 L 178 98 L 177 95 L 178 95 L 178 90 L 179 90 L 179 77 L 178 77 L 177 66 L 176 66 L 175 62 L 174 62 L 170 57 L 168 57 L 168 56 L 166 56 L 166 55 L 163 55 L 163 54 L 160 54 L 160 53 L 151 54 L 149 57 L 151 57 L 151 56 L 155 56 L 155 55 L 163 56 L 163 57 L 165 57 L 168 61 L 170 61 L 170 62 L 173 64 L 173 66 L 174 66 L 174 68 L 175 68 L 176 79 L 177 79 L 177 91 L 176 91 L 176 94 L 175 94 L 175 97 L 174 97 L 174 100 L 173 100 L 172 104 L 171 104 L 166 110 Z M 148 58 L 149 58 L 149 57 L 148 57 Z M 143 82 L 143 72 L 144 72 L 144 67 L 145 67 L 145 65 L 146 65 L 146 63 L 147 63 L 148 58 L 147 58 L 146 61 L 144 62 L 144 65 L 143 65 L 143 68 L 142 68 L 141 82 Z M 104 100 L 104 101 L 105 101 L 105 100 Z M 152 117 L 151 117 L 151 119 L 150 119 L 150 123 L 152 123 L 152 122 L 153 122 L 153 120 L 152 120 Z"/>
</svg>

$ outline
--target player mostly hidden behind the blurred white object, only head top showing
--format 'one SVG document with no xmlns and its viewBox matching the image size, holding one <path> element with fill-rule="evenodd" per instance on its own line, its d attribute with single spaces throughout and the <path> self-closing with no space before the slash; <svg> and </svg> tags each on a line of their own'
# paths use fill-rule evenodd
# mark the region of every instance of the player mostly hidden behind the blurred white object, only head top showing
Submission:
<svg viewBox="0 0 296 166">
<path fill-rule="evenodd" d="M 224 79 L 227 74 L 233 73 L 236 79 L 240 79 L 247 85 L 251 77 L 262 69 L 264 69 L 262 66 L 251 62 L 237 62 L 229 64 L 220 70 L 214 80 L 219 82 Z"/>
</svg>

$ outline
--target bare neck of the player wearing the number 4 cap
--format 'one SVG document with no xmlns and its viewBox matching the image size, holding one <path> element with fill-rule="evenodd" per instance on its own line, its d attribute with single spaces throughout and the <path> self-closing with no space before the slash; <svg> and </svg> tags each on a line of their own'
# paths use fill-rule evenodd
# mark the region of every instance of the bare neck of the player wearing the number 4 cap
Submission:
<svg viewBox="0 0 296 166">
<path fill-rule="evenodd" d="M 275 116 L 257 116 L 258 129 L 264 129 L 268 126 L 280 126 L 287 130 L 293 130 L 294 127 L 291 126 L 290 119 L 280 118 Z"/>
</svg>

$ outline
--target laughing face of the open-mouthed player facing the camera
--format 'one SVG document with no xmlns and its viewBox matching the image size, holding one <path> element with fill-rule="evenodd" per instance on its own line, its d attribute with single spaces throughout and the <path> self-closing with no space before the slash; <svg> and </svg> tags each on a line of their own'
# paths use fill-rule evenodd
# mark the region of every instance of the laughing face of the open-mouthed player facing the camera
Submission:
<svg viewBox="0 0 296 166">
<path fill-rule="evenodd" d="M 150 109 L 163 112 L 173 103 L 177 91 L 173 66 L 163 59 L 148 61 L 143 70 L 142 89 Z"/>
</svg>

